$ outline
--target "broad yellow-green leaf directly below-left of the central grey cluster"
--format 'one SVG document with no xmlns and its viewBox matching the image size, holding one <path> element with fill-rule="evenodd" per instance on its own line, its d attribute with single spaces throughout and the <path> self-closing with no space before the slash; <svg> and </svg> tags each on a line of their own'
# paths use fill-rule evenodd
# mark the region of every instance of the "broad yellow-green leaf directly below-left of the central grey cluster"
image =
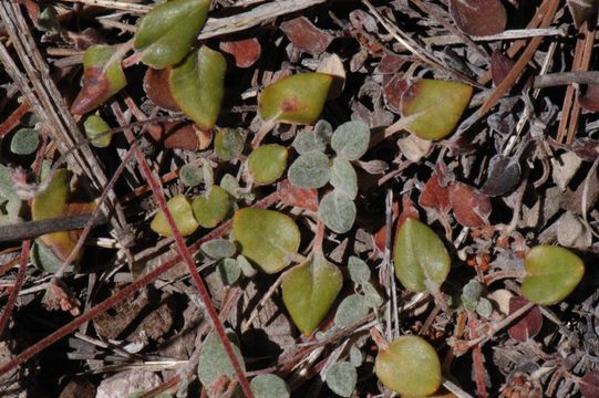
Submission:
<svg viewBox="0 0 599 398">
<path fill-rule="evenodd" d="M 246 208 L 237 211 L 233 231 L 241 254 L 266 273 L 276 273 L 289 265 L 301 239 L 296 222 L 273 210 Z"/>
</svg>

